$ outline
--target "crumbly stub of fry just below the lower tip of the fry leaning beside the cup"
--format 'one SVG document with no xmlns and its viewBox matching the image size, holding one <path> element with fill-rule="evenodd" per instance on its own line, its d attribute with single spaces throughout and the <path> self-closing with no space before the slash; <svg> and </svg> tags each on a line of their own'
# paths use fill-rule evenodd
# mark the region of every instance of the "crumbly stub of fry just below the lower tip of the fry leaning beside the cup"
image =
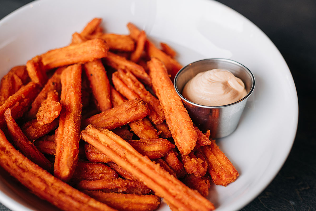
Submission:
<svg viewBox="0 0 316 211">
<path fill-rule="evenodd" d="M 207 171 L 207 161 L 201 152 L 181 156 L 185 171 L 196 177 L 203 177 Z"/>
</svg>

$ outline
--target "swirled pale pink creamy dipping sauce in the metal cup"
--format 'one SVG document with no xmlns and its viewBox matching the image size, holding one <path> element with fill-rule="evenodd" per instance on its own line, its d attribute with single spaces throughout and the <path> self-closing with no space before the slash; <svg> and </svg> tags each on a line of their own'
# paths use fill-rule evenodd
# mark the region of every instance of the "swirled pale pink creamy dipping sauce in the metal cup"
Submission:
<svg viewBox="0 0 316 211">
<path fill-rule="evenodd" d="M 213 69 L 198 73 L 189 80 L 182 95 L 200 105 L 222 106 L 239 101 L 247 95 L 245 84 L 230 71 Z"/>
</svg>

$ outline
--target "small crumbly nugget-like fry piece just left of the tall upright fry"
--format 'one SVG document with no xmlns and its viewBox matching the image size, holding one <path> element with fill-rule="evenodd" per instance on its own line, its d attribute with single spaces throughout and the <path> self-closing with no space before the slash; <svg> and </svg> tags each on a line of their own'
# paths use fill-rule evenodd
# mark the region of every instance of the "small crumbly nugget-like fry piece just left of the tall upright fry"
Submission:
<svg viewBox="0 0 316 211">
<path fill-rule="evenodd" d="M 59 116 L 61 109 L 58 92 L 50 91 L 47 98 L 41 103 L 36 119 L 40 125 L 49 124 Z"/>
</svg>

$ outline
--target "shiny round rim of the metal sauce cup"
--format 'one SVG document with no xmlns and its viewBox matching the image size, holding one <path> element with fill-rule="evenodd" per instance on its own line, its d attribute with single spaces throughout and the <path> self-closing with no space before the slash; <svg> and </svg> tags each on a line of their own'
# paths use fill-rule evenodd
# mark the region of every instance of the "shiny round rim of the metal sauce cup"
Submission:
<svg viewBox="0 0 316 211">
<path fill-rule="evenodd" d="M 230 63 L 233 63 L 235 65 L 238 65 L 242 68 L 244 68 L 248 74 L 251 76 L 251 80 L 252 80 L 252 87 L 250 88 L 249 92 L 247 93 L 247 95 L 245 97 L 243 97 L 242 99 L 240 99 L 239 101 L 236 101 L 236 102 L 233 102 L 233 103 L 230 103 L 230 104 L 227 104 L 227 105 L 222 105 L 222 106 L 205 106 L 205 105 L 201 105 L 201 104 L 197 104 L 195 102 L 192 102 L 188 99 L 186 99 L 184 96 L 182 96 L 182 94 L 179 92 L 178 90 L 178 87 L 177 87 L 177 79 L 179 78 L 179 75 L 181 74 L 182 71 L 184 71 L 187 67 L 191 66 L 192 64 L 194 63 L 198 63 L 198 62 L 202 62 L 202 61 L 205 61 L 205 60 L 214 60 L 214 61 L 226 61 L 226 62 L 230 62 Z M 231 59 L 222 59 L 222 58 L 211 58 L 211 59 L 201 59 L 201 60 L 198 60 L 198 61 L 195 61 L 195 62 L 192 62 L 188 65 L 185 65 L 184 67 L 182 67 L 178 73 L 176 74 L 176 76 L 174 77 L 174 81 L 173 81 L 173 86 L 174 86 L 174 89 L 176 90 L 177 94 L 179 95 L 179 97 L 184 100 L 185 102 L 188 102 L 192 105 L 195 105 L 197 107 L 201 107 L 201 108 L 207 108 L 207 109 L 219 109 L 219 108 L 225 108 L 225 107 L 228 107 L 228 106 L 231 106 L 231 105 L 234 105 L 234 104 L 237 104 L 245 99 L 247 99 L 252 91 L 254 90 L 255 88 L 255 77 L 253 76 L 252 72 L 245 66 L 245 65 L 242 65 L 240 64 L 239 62 L 236 62 L 234 60 L 231 60 Z"/>
</svg>

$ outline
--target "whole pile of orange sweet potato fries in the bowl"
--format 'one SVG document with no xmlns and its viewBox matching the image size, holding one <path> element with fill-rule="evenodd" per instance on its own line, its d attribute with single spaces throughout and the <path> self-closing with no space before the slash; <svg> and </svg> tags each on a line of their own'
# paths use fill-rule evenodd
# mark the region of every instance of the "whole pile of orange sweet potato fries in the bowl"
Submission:
<svg viewBox="0 0 316 211">
<path fill-rule="evenodd" d="M 63 210 L 215 209 L 210 183 L 239 174 L 176 94 L 175 51 L 100 23 L 2 78 L 0 165 Z"/>
</svg>

